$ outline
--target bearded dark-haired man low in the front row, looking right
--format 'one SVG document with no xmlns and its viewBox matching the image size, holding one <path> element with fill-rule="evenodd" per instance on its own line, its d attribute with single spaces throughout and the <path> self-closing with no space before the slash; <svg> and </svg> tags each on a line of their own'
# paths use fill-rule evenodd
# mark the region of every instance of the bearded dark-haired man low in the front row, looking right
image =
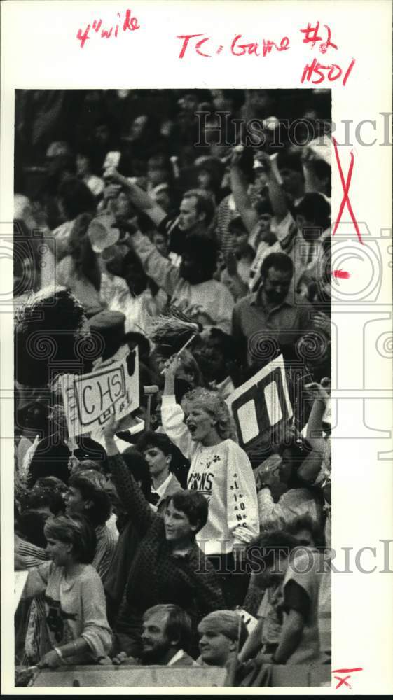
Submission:
<svg viewBox="0 0 393 700">
<path fill-rule="evenodd" d="M 139 659 L 120 652 L 113 664 L 126 666 L 198 666 L 188 654 L 191 619 L 179 605 L 154 605 L 143 616 Z"/>
</svg>

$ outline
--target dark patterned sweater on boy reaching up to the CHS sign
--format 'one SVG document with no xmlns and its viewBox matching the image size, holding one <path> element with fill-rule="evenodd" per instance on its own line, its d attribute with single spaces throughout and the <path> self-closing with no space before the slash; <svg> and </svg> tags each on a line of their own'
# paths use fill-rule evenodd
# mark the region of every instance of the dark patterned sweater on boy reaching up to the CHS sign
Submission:
<svg viewBox="0 0 393 700">
<path fill-rule="evenodd" d="M 212 610 L 225 607 L 214 568 L 196 542 L 186 556 L 172 554 L 165 538 L 163 517 L 151 510 L 120 454 L 109 457 L 109 470 L 141 537 L 116 624 L 117 631 L 130 636 L 135 644 L 127 648 L 119 643 L 119 647 L 138 656 L 143 613 L 153 605 L 173 603 L 190 615 L 194 650 L 197 650 L 196 628 L 200 619 Z"/>
</svg>

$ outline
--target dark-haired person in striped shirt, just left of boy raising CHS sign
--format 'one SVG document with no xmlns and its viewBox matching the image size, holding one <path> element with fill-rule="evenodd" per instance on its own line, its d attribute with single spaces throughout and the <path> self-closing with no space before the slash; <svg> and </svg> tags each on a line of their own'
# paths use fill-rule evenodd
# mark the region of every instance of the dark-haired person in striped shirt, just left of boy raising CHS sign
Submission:
<svg viewBox="0 0 393 700">
<path fill-rule="evenodd" d="M 111 501 L 102 488 L 100 475 L 94 470 L 71 475 L 65 502 L 67 514 L 83 514 L 95 528 L 97 545 L 92 566 L 103 578 L 111 566 L 118 538 L 106 526 L 111 516 Z"/>
</svg>

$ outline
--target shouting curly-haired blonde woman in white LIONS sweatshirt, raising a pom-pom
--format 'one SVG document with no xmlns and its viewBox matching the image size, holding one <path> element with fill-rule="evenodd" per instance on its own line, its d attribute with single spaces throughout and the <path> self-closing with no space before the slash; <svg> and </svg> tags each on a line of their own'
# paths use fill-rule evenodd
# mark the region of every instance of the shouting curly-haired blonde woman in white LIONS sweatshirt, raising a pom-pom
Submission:
<svg viewBox="0 0 393 700">
<path fill-rule="evenodd" d="M 165 372 L 163 429 L 191 460 L 188 489 L 200 491 L 209 501 L 209 517 L 197 541 L 219 570 L 223 594 L 232 607 L 242 603 L 248 583 L 245 574 L 235 575 L 235 557 L 259 532 L 254 474 L 247 454 L 233 440 L 230 412 L 218 393 L 198 387 L 185 395 L 181 406 L 176 403 L 178 363 L 176 358 Z"/>
</svg>

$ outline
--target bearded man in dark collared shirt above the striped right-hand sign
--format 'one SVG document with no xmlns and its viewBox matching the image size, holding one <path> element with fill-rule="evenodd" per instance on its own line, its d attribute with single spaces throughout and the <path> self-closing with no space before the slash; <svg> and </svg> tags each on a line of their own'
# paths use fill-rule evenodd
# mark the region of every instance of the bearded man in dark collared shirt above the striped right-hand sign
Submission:
<svg viewBox="0 0 393 700">
<path fill-rule="evenodd" d="M 270 253 L 261 266 L 261 285 L 233 309 L 233 335 L 244 347 L 249 367 L 268 364 L 312 328 L 312 304 L 293 289 L 294 263 Z"/>
</svg>

